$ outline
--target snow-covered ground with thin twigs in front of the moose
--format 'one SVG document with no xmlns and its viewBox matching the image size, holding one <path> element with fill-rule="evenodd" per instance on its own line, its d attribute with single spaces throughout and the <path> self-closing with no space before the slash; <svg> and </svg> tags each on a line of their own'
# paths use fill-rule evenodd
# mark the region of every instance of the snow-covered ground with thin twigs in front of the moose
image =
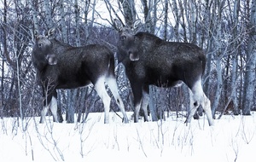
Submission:
<svg viewBox="0 0 256 162">
<path fill-rule="evenodd" d="M 122 124 L 110 114 L 110 124 L 103 113 L 90 113 L 84 124 L 0 119 L 0 161 L 256 161 L 256 113 L 223 116 L 212 127 L 206 117 L 186 126 L 175 115 Z"/>
</svg>

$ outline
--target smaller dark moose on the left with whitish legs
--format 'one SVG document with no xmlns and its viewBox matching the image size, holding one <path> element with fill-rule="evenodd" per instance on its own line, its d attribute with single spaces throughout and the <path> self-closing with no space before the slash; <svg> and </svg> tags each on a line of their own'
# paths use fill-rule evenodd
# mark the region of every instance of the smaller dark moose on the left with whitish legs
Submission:
<svg viewBox="0 0 256 162">
<path fill-rule="evenodd" d="M 44 123 L 49 109 L 54 121 L 59 122 L 57 89 L 75 89 L 93 84 L 104 105 L 104 123 L 108 124 L 111 97 L 107 93 L 105 83 L 108 84 L 113 98 L 123 113 L 124 122 L 128 123 L 125 106 L 119 96 L 114 75 L 113 52 L 100 44 L 73 47 L 67 43 L 61 43 L 53 36 L 54 32 L 55 28 L 44 35 L 34 32 L 32 63 L 44 97 L 40 123 Z"/>
</svg>

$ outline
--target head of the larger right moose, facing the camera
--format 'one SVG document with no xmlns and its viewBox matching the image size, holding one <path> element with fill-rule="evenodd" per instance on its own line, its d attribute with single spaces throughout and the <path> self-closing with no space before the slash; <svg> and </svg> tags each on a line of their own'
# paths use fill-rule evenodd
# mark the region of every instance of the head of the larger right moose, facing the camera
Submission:
<svg viewBox="0 0 256 162">
<path fill-rule="evenodd" d="M 113 20 L 113 26 L 119 32 L 119 50 L 123 51 L 123 54 L 129 55 L 131 61 L 139 60 L 139 51 L 137 49 L 139 49 L 138 47 L 140 44 L 134 34 L 140 23 L 140 20 L 136 20 L 134 26 L 130 28 L 128 26 L 124 26 L 119 20 Z M 119 62 L 123 61 L 126 55 L 119 55 Z"/>
</svg>

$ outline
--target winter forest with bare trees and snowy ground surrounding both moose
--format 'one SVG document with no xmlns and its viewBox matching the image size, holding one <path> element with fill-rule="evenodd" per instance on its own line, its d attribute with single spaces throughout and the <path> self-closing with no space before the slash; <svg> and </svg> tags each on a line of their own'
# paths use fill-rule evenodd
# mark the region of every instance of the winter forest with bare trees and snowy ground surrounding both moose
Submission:
<svg viewBox="0 0 256 162">
<path fill-rule="evenodd" d="M 0 0 L 0 18 L 1 161 L 255 161 L 255 0 Z M 185 84 L 150 86 L 150 121 L 133 123 L 114 19 L 131 28 L 140 20 L 137 32 L 203 49 L 202 84 L 214 126 L 205 124 L 201 107 L 198 120 L 183 124 L 189 111 Z M 102 100 L 92 85 L 57 90 L 64 122 L 53 123 L 49 111 L 39 124 L 44 96 L 32 64 L 34 33 L 53 27 L 62 43 L 97 43 L 113 51 L 129 124 L 116 115 L 122 116 L 114 100 L 110 124 L 103 124 Z"/>
</svg>

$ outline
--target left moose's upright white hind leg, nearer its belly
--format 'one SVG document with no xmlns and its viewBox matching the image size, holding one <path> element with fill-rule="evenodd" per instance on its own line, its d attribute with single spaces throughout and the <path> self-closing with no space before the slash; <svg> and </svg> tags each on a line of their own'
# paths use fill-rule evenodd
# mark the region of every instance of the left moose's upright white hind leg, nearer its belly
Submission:
<svg viewBox="0 0 256 162">
<path fill-rule="evenodd" d="M 104 105 L 104 124 L 108 124 L 111 98 L 109 97 L 107 90 L 105 89 L 105 77 L 98 78 L 96 84 L 94 84 L 94 88 L 97 94 L 101 97 Z"/>
</svg>

